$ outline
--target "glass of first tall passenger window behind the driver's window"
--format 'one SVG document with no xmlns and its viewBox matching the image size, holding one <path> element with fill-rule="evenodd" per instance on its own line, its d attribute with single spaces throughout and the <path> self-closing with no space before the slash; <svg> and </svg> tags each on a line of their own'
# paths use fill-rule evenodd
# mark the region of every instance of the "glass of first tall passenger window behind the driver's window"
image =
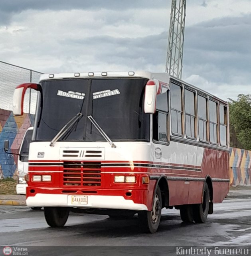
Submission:
<svg viewBox="0 0 251 256">
<path fill-rule="evenodd" d="M 182 87 L 176 84 L 170 83 L 171 91 L 171 123 L 172 133 L 178 135 L 184 135 L 182 131 Z"/>
</svg>

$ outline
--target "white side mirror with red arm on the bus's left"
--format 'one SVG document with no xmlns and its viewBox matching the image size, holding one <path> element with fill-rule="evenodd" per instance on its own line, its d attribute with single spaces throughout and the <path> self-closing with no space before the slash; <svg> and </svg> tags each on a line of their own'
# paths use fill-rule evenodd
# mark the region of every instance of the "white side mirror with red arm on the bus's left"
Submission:
<svg viewBox="0 0 251 256">
<path fill-rule="evenodd" d="M 12 101 L 13 114 L 15 116 L 22 116 L 22 114 L 24 114 L 23 112 L 24 94 L 28 88 L 32 88 L 37 91 L 41 90 L 40 89 L 41 87 L 39 84 L 27 83 L 27 84 L 20 84 L 19 86 L 17 86 L 14 91 L 13 101 Z"/>
</svg>

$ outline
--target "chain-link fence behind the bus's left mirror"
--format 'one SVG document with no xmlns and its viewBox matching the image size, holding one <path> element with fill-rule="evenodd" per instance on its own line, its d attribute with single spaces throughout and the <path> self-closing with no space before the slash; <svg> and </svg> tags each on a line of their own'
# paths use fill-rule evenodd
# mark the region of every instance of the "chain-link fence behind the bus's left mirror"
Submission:
<svg viewBox="0 0 251 256">
<path fill-rule="evenodd" d="M 41 72 L 0 61 L 0 108 L 12 110 L 12 96 L 16 86 L 38 83 Z M 38 92 L 27 90 L 24 96 L 24 112 L 35 114 Z"/>
</svg>

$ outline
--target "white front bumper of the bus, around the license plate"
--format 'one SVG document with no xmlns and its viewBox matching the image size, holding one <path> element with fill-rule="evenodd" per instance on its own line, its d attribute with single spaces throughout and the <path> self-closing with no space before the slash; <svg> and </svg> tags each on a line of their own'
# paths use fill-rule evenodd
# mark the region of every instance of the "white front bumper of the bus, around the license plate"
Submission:
<svg viewBox="0 0 251 256">
<path fill-rule="evenodd" d="M 147 210 L 145 204 L 136 204 L 133 200 L 123 196 L 98 196 L 88 195 L 88 203 L 85 205 L 72 204 L 71 196 L 67 194 L 40 194 L 28 196 L 26 204 L 29 207 L 54 206 L 54 207 L 78 207 L 78 208 L 103 208 L 120 210 Z"/>
</svg>

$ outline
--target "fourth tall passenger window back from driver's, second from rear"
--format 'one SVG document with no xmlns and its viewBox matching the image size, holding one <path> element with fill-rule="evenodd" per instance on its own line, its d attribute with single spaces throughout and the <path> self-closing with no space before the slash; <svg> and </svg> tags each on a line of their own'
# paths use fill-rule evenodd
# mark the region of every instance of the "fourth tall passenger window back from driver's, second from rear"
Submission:
<svg viewBox="0 0 251 256">
<path fill-rule="evenodd" d="M 218 143 L 218 118 L 217 118 L 217 103 L 209 100 L 209 138 L 210 142 Z"/>
</svg>

